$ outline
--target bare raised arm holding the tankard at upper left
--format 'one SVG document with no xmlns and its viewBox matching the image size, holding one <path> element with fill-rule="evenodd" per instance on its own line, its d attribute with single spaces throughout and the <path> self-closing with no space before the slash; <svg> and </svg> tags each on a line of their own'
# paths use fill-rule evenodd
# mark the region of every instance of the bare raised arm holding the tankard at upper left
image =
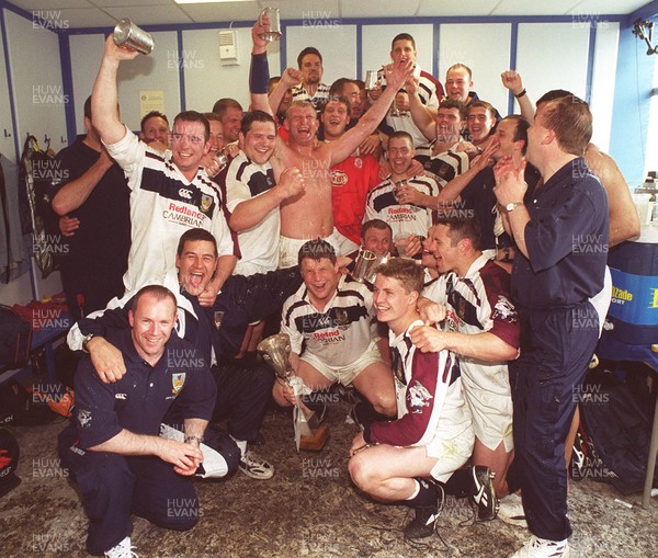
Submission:
<svg viewBox="0 0 658 558">
<path fill-rule="evenodd" d="M 101 68 L 91 93 L 91 114 L 95 128 L 105 145 L 116 144 L 126 135 L 118 117 L 118 92 L 116 77 L 122 60 L 132 60 L 139 53 L 116 46 L 112 36 L 105 41 Z"/>
</svg>

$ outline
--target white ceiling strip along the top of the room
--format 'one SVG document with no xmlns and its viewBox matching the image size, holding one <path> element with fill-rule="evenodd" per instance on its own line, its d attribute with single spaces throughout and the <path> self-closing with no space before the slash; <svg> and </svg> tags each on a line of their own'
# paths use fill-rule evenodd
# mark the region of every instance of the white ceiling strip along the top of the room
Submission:
<svg viewBox="0 0 658 558">
<path fill-rule="evenodd" d="M 121 18 L 138 25 L 254 21 L 264 5 L 281 10 L 282 20 L 370 18 L 572 15 L 600 21 L 626 15 L 647 0 L 240 0 L 177 4 L 173 0 L 9 0 L 50 29 L 105 27 Z"/>
</svg>

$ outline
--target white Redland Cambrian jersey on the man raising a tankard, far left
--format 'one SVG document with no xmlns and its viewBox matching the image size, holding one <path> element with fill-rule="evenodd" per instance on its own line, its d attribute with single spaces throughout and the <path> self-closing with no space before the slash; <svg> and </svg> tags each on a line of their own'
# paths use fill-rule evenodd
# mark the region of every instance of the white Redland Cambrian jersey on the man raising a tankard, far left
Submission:
<svg viewBox="0 0 658 558">
<path fill-rule="evenodd" d="M 237 237 L 228 228 L 226 207 L 205 170 L 190 182 L 171 161 L 126 128 L 116 144 L 105 146 L 124 170 L 131 187 L 131 252 L 124 275 L 126 291 L 149 283 L 161 285 L 175 270 L 175 251 L 185 230 L 208 230 L 219 255 L 240 255 Z"/>
</svg>

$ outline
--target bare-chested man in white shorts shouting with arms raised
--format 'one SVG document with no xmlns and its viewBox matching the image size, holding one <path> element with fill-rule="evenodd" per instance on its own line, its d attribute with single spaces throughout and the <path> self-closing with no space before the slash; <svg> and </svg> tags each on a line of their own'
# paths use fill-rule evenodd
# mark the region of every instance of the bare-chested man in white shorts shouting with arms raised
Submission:
<svg viewBox="0 0 658 558">
<path fill-rule="evenodd" d="M 251 33 L 253 49 L 250 90 L 252 107 L 271 114 L 268 102 L 268 42 L 259 36 L 263 29 L 257 23 Z M 295 265 L 299 248 L 309 239 L 320 237 L 338 249 L 331 212 L 331 167 L 347 159 L 374 132 L 411 70 L 410 61 L 388 67 L 386 91 L 361 117 L 356 126 L 329 144 L 317 141 L 319 122 L 314 106 L 306 102 L 294 102 L 291 105 L 284 121 L 290 137 L 286 141 L 276 139 L 271 162 L 277 181 L 284 169 L 298 168 L 304 175 L 306 187 L 300 194 L 281 204 L 280 266 Z M 283 72 L 277 87 L 290 88 L 295 82 L 292 81 L 295 79 L 293 73 L 290 69 Z"/>
</svg>

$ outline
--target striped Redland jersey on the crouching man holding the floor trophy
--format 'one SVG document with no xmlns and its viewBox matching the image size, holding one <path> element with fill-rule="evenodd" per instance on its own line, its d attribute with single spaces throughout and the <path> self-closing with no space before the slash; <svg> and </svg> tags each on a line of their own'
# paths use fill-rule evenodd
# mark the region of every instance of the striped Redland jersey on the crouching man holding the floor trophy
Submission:
<svg viewBox="0 0 658 558">
<path fill-rule="evenodd" d="M 343 276 L 331 300 L 318 311 L 302 285 L 283 305 L 281 332 L 290 335 L 294 353 L 300 354 L 305 343 L 305 351 L 327 365 L 347 366 L 378 339 L 373 295 L 367 286 Z"/>
</svg>

